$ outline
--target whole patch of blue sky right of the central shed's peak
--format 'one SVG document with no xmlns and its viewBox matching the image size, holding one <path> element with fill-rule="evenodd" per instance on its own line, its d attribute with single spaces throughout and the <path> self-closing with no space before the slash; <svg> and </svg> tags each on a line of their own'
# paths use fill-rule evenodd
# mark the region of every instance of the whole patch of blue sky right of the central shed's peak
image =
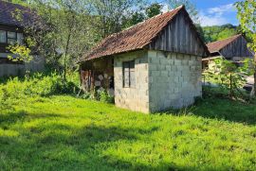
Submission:
<svg viewBox="0 0 256 171">
<path fill-rule="evenodd" d="M 155 0 L 159 3 L 163 0 Z M 236 9 L 233 4 L 237 0 L 191 0 L 199 11 L 202 26 L 220 26 L 232 24 L 237 26 Z M 164 8 L 166 9 L 166 8 Z"/>
</svg>

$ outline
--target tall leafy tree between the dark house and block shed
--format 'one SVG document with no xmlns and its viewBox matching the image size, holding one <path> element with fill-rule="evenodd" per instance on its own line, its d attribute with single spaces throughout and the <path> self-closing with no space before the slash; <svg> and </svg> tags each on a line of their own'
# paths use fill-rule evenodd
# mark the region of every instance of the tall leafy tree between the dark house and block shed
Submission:
<svg viewBox="0 0 256 171">
<path fill-rule="evenodd" d="M 38 18 L 25 26 L 26 42 L 30 42 L 27 48 L 46 57 L 47 63 L 62 72 L 64 80 L 66 71 L 100 40 L 94 25 L 98 19 L 89 15 L 86 6 L 86 1 L 30 1 L 31 12 L 36 11 Z"/>
</svg>

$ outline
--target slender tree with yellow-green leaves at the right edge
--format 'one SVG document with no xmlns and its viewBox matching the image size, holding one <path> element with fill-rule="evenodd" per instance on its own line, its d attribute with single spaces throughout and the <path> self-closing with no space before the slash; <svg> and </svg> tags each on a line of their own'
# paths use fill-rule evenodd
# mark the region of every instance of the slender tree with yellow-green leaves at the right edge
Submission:
<svg viewBox="0 0 256 171">
<path fill-rule="evenodd" d="M 242 31 L 247 35 L 247 38 L 251 40 L 248 43 L 249 48 L 256 52 L 256 1 L 245 0 L 239 1 L 235 4 L 238 9 L 238 19 L 242 28 Z M 254 53 L 254 87 L 251 93 L 256 94 L 256 54 Z"/>
</svg>

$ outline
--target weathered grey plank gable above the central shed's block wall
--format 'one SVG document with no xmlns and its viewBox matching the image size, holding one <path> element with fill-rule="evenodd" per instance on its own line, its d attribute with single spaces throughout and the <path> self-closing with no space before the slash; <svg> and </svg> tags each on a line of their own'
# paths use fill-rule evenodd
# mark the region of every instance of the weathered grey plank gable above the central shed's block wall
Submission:
<svg viewBox="0 0 256 171">
<path fill-rule="evenodd" d="M 149 49 L 206 57 L 205 43 L 194 27 L 188 13 L 182 10 L 149 44 Z"/>
</svg>

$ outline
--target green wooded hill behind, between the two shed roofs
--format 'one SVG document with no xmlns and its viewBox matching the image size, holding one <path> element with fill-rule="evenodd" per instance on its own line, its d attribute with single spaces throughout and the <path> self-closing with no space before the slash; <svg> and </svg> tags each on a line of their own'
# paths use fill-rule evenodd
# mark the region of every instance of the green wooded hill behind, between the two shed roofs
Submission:
<svg viewBox="0 0 256 171">
<path fill-rule="evenodd" d="M 202 26 L 198 29 L 205 43 L 223 40 L 240 33 L 239 26 L 232 26 L 230 24 L 223 26 Z"/>
</svg>

